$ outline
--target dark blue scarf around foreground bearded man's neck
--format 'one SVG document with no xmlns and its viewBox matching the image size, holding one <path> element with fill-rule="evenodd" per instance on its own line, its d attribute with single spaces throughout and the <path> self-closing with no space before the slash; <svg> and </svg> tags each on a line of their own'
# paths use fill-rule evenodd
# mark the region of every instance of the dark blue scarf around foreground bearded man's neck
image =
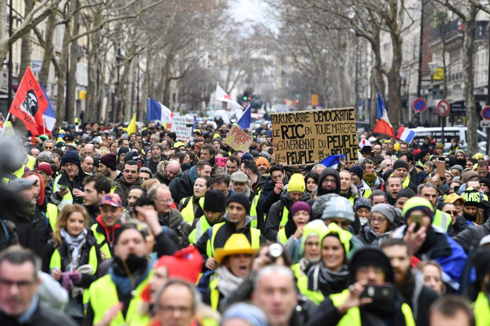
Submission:
<svg viewBox="0 0 490 326">
<path fill-rule="evenodd" d="M 123 296 L 129 295 L 136 289 L 148 277 L 152 268 L 152 265 L 148 263 L 145 257 L 130 255 L 125 263 L 131 276 L 127 274 L 123 267 L 123 261 L 118 257 L 114 258 L 108 271 L 112 281 L 116 284 L 116 287 Z"/>
</svg>

